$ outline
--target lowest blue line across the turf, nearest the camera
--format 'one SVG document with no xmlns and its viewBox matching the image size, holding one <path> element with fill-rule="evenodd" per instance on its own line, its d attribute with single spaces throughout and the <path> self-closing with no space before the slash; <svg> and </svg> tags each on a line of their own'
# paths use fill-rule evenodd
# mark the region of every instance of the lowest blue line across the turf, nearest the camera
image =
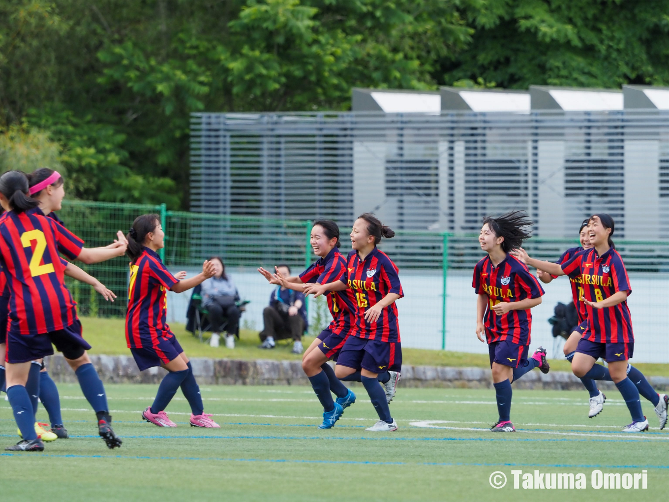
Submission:
<svg viewBox="0 0 669 502">
<path fill-rule="evenodd" d="M 124 458 L 131 460 L 191 460 L 191 461 L 222 461 L 222 462 L 266 462 L 266 463 L 294 463 L 294 464 L 351 464 L 351 465 L 435 465 L 435 466 L 478 466 L 478 467 L 566 467 L 585 469 L 669 469 L 667 465 L 599 465 L 599 464 L 525 464 L 525 463 L 468 463 L 468 462 L 373 462 L 373 461 L 325 461 L 299 460 L 286 458 L 218 458 L 197 456 L 143 456 L 143 455 L 80 455 L 80 454 L 50 454 L 50 453 L 0 453 L 0 456 L 49 456 L 55 458 Z"/>
</svg>

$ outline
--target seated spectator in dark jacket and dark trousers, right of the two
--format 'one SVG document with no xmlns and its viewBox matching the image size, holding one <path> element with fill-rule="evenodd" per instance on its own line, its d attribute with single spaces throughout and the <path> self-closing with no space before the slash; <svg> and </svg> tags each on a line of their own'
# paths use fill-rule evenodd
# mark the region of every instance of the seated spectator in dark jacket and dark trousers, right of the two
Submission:
<svg viewBox="0 0 669 502">
<path fill-rule="evenodd" d="M 279 265 L 279 272 L 284 277 L 290 276 L 288 265 Z M 292 338 L 292 353 L 301 354 L 302 333 L 306 329 L 306 305 L 304 295 L 292 289 L 276 286 L 270 295 L 270 306 L 262 311 L 265 322 L 264 329 L 260 332 L 261 349 L 274 349 L 276 340 Z"/>
</svg>

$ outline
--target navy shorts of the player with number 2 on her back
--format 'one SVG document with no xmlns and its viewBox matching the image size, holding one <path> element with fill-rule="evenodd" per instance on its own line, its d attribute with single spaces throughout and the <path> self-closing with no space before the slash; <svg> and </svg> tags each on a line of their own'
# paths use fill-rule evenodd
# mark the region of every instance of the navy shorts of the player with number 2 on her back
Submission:
<svg viewBox="0 0 669 502">
<path fill-rule="evenodd" d="M 41 359 L 54 354 L 54 347 L 62 352 L 67 359 L 79 359 L 84 351 L 90 350 L 90 345 L 82 337 L 82 325 L 79 319 L 64 329 L 42 333 L 41 335 L 21 335 L 7 333 L 7 353 L 5 361 L 8 363 L 25 363 Z"/>
</svg>

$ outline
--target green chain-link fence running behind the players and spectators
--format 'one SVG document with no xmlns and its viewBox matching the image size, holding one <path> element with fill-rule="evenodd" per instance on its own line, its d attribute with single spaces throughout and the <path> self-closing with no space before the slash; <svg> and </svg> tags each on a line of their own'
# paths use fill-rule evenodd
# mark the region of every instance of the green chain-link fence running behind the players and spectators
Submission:
<svg viewBox="0 0 669 502">
<path fill-rule="evenodd" d="M 316 258 L 308 245 L 311 229 L 308 220 L 261 220 L 171 212 L 165 205 L 84 201 L 64 203 L 60 217 L 86 241 L 87 247 L 96 247 L 110 244 L 117 230 L 126 233 L 136 216 L 147 213 L 161 216 L 166 234 L 162 256 L 171 270 L 196 273 L 203 260 L 221 257 L 240 295 L 251 300 L 242 318 L 248 329 L 262 329 L 262 309 L 272 290 L 256 268 L 288 264 L 293 272 L 299 272 Z M 348 232 L 349 229 L 342 229 L 342 252 L 345 253 L 350 250 Z M 533 238 L 525 248 L 535 258 L 556 260 L 565 249 L 577 245 L 577 240 Z M 400 268 L 405 298 L 398 301 L 398 308 L 405 345 L 456 351 L 485 350 L 473 335 L 476 301 L 471 288 L 472 270 L 483 256 L 478 235 L 397 232 L 395 238 L 384 240 L 380 247 Z M 644 341 L 644 345 L 637 345 L 635 358 L 669 362 L 669 341 L 664 336 L 669 307 L 666 300 L 669 242 L 617 240 L 616 247 L 630 272 L 634 291 L 629 300 L 634 333 L 637 341 Z M 107 303 L 93 295 L 90 286 L 68 281 L 80 313 L 123 316 L 127 302 L 127 260 L 114 258 L 82 268 L 114 290 L 118 299 L 113 304 Z M 533 343 L 553 343 L 546 320 L 553 315 L 557 301 L 571 301 L 565 278 L 547 284 L 545 290 L 542 305 L 533 310 Z M 189 293 L 170 295 L 169 321 L 185 321 Z M 313 302 L 310 314 L 312 333 L 329 320 Z M 644 355 L 642 346 L 648 347 L 648 354 Z"/>
</svg>

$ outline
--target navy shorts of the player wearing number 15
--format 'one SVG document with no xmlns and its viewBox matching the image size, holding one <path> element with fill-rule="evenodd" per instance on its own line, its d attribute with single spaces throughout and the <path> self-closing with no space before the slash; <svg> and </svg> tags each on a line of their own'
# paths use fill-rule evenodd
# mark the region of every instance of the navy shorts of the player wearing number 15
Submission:
<svg viewBox="0 0 669 502">
<path fill-rule="evenodd" d="M 339 352 L 337 364 L 372 373 L 401 371 L 402 345 L 399 342 L 349 336 Z"/>
</svg>

